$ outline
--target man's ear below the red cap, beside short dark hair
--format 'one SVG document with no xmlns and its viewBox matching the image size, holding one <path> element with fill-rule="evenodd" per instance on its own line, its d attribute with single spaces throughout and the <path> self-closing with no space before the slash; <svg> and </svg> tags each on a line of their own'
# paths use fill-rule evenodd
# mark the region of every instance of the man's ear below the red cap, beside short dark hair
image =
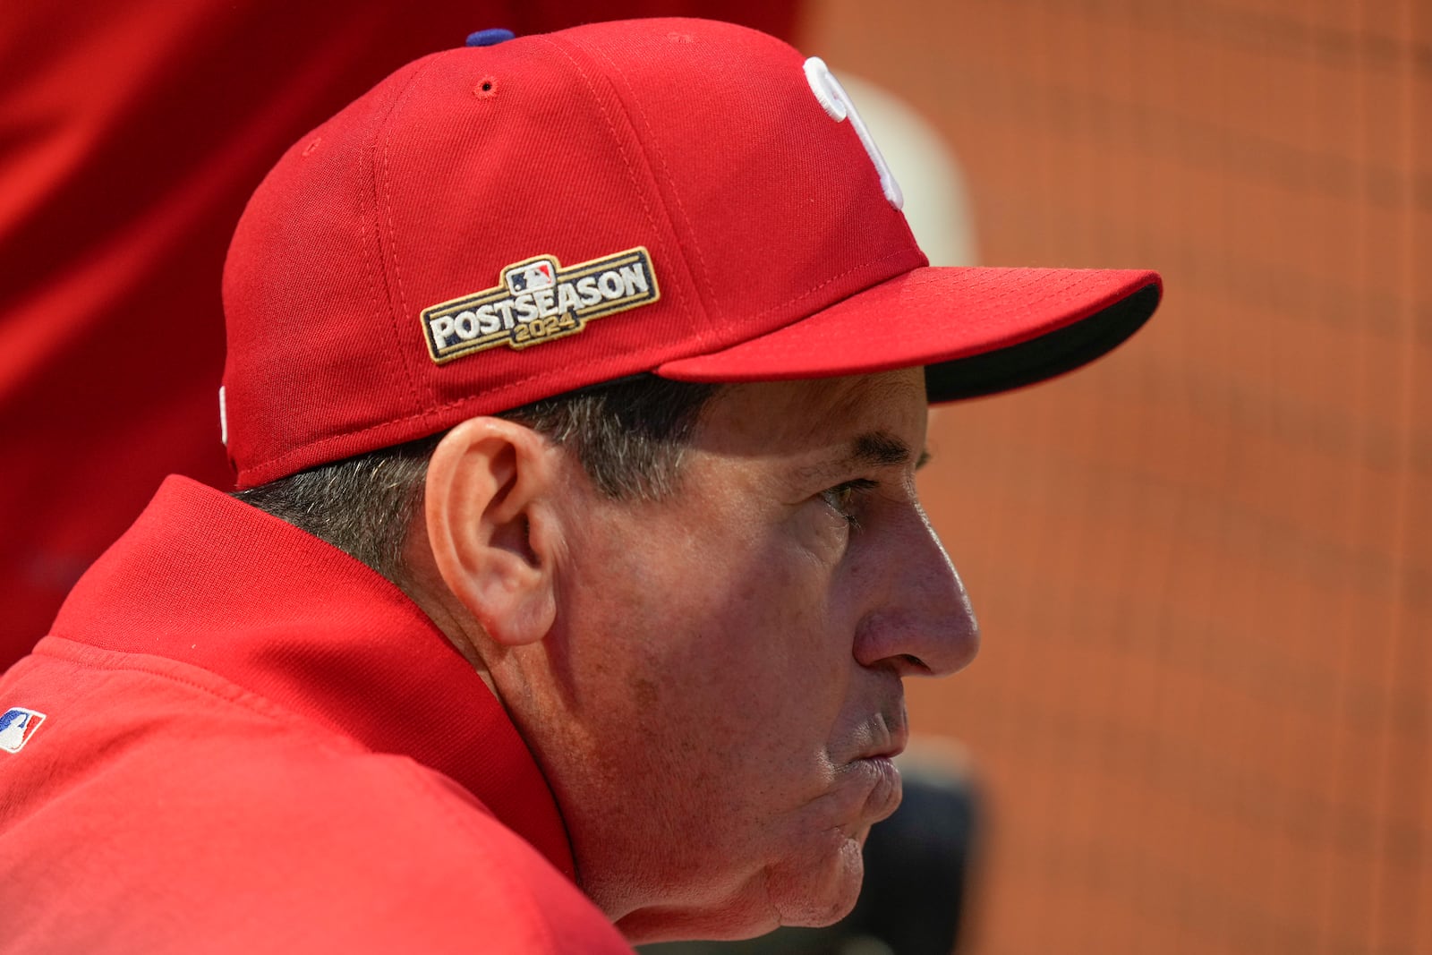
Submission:
<svg viewBox="0 0 1432 955">
<path fill-rule="evenodd" d="M 556 468 L 546 440 L 503 418 L 470 418 L 428 462 L 425 517 L 448 590 L 503 646 L 534 643 L 557 616 Z"/>
</svg>

